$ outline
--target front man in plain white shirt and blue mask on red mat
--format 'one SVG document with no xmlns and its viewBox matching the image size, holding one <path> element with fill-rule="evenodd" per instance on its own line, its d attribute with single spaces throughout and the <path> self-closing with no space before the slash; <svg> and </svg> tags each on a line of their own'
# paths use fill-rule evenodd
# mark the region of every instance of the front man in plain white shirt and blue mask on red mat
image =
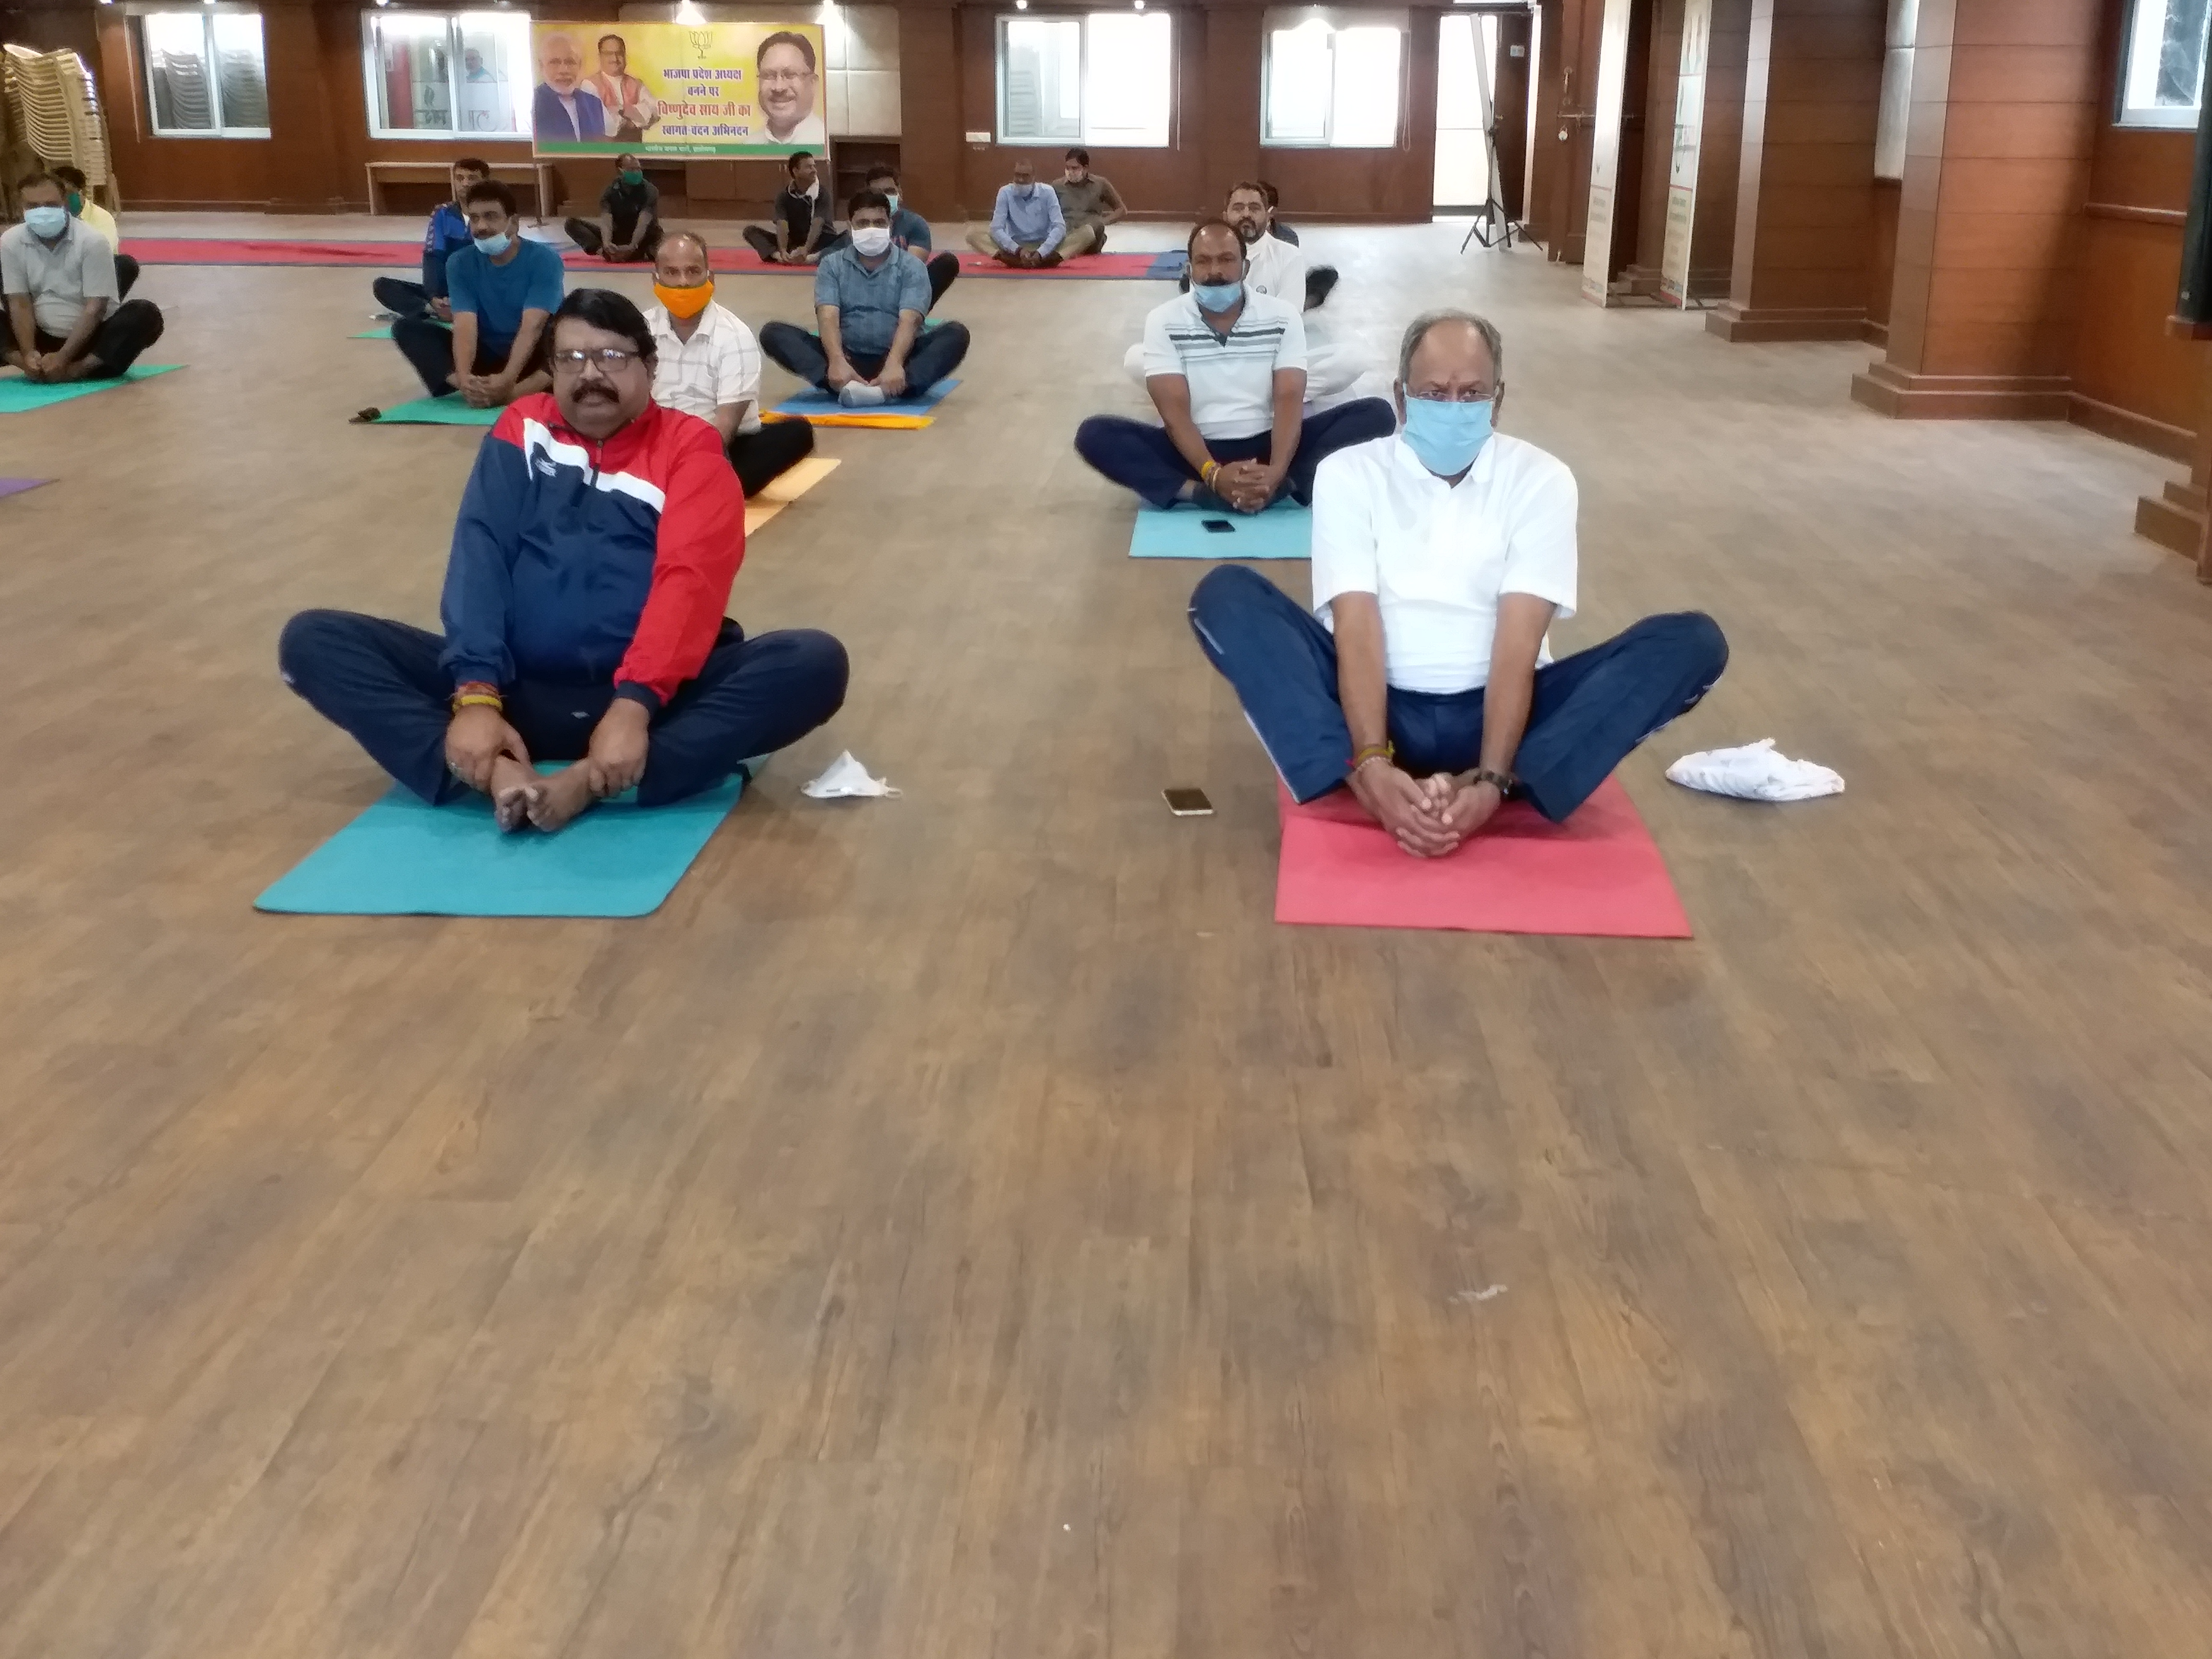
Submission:
<svg viewBox="0 0 2212 1659">
<path fill-rule="evenodd" d="M 1699 611 L 1551 661 L 1546 630 L 1575 615 L 1575 476 L 1491 431 L 1502 367 L 1480 316 L 1413 319 L 1405 429 L 1329 456 L 1314 482 L 1312 613 L 1241 564 L 1190 597 L 1290 792 L 1349 783 L 1420 858 L 1458 849 L 1509 794 L 1559 823 L 1728 666 Z"/>
</svg>

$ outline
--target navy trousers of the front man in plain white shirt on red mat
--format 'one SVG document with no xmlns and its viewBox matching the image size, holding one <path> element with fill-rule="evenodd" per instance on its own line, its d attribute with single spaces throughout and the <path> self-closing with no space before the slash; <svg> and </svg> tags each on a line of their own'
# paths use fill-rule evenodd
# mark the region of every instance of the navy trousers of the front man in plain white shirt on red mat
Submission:
<svg viewBox="0 0 2212 1659">
<path fill-rule="evenodd" d="M 1336 635 L 1259 571 L 1221 564 L 1190 595 L 1206 659 L 1237 688 L 1267 759 L 1301 801 L 1352 772 L 1336 701 Z M 1728 639 L 1701 611 L 1646 617 L 1601 646 L 1535 670 L 1513 774 L 1553 823 L 1590 799 L 1637 743 L 1697 706 L 1728 668 Z M 1467 772 L 1482 759 L 1482 692 L 1389 690 L 1389 739 L 1409 772 Z"/>
</svg>

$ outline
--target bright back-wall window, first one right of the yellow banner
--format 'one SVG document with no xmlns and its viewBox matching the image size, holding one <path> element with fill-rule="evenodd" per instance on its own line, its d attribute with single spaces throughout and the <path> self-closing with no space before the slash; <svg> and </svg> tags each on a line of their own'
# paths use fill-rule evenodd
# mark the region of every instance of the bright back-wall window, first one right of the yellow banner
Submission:
<svg viewBox="0 0 2212 1659">
<path fill-rule="evenodd" d="M 1168 144 L 1175 24 L 1166 11 L 998 20 L 1000 144 Z"/>
</svg>

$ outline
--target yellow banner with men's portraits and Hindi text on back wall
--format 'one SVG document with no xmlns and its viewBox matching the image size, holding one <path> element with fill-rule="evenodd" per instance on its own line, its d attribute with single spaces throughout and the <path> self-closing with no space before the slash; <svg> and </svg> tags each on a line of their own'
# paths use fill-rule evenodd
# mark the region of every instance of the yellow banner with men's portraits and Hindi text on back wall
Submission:
<svg viewBox="0 0 2212 1659">
<path fill-rule="evenodd" d="M 538 155 L 792 155 L 830 146 L 814 22 L 533 22 Z"/>
</svg>

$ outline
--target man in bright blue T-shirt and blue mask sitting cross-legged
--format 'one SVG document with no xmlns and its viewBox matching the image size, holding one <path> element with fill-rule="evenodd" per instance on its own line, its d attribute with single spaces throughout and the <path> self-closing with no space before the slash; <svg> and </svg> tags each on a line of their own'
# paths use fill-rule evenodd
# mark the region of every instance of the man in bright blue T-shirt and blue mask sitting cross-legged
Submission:
<svg viewBox="0 0 2212 1659">
<path fill-rule="evenodd" d="M 429 394 L 460 392 L 495 409 L 551 380 L 540 363 L 546 319 L 560 305 L 560 254 L 520 234 L 515 192 L 498 179 L 469 186 L 471 243 L 445 261 L 453 327 L 400 316 L 392 343 L 414 363 Z"/>
</svg>

